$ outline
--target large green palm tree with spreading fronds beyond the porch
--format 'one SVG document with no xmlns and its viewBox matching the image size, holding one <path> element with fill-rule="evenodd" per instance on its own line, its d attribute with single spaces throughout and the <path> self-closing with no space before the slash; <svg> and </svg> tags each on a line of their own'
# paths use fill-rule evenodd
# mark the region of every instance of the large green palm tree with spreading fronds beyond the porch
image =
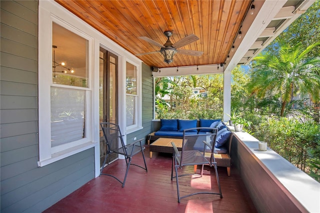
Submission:
<svg viewBox="0 0 320 213">
<path fill-rule="evenodd" d="M 294 46 L 282 45 L 278 55 L 268 51 L 255 57 L 250 73 L 248 89 L 251 94 L 264 97 L 266 93 L 281 97 L 280 116 L 283 116 L 286 103 L 293 96 L 308 96 L 313 103 L 320 97 L 320 58 L 309 57 L 308 53 L 320 42 L 304 48 L 298 43 Z"/>
</svg>

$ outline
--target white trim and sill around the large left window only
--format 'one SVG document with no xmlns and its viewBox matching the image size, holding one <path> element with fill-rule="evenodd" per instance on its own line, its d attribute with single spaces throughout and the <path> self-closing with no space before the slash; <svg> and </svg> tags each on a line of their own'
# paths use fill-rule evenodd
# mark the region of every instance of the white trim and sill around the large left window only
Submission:
<svg viewBox="0 0 320 213">
<path fill-rule="evenodd" d="M 38 166 L 44 166 L 64 157 L 78 153 L 95 146 L 93 141 L 93 39 L 76 27 L 58 18 L 50 11 L 39 6 L 39 43 L 38 43 L 38 88 L 39 88 L 39 161 Z M 52 83 L 52 22 L 80 35 L 88 40 L 88 88 L 85 90 L 85 137 L 67 144 L 51 147 L 50 126 L 50 88 Z M 73 86 L 59 85 L 59 87 L 74 88 Z"/>
</svg>

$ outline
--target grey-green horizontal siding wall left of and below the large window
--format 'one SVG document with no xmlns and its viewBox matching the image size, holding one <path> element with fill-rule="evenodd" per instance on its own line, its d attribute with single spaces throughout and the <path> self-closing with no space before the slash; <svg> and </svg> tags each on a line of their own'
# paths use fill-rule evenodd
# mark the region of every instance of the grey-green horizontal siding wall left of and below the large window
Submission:
<svg viewBox="0 0 320 213">
<path fill-rule="evenodd" d="M 41 212 L 94 178 L 94 151 L 37 167 L 38 1 L 0 8 L 0 211 Z"/>
</svg>

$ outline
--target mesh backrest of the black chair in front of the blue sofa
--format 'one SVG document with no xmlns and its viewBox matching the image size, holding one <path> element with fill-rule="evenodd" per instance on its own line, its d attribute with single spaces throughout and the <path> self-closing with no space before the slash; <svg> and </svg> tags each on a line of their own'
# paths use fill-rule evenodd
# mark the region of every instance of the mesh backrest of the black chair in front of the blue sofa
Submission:
<svg viewBox="0 0 320 213">
<path fill-rule="evenodd" d="M 187 152 L 190 150 L 197 150 L 203 155 L 205 155 L 205 152 L 213 153 L 217 130 L 217 128 L 209 127 L 196 127 L 184 129 L 180 158 L 181 163 L 186 161 L 183 158 L 185 158 Z M 211 147 L 207 146 L 203 141 L 210 144 Z M 213 154 L 211 155 L 213 156 Z"/>
</svg>

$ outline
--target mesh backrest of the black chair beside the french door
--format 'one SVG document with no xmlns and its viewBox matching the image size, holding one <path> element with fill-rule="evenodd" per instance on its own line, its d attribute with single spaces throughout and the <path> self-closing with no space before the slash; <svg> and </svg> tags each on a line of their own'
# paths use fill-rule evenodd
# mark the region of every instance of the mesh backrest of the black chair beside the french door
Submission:
<svg viewBox="0 0 320 213">
<path fill-rule="evenodd" d="M 103 136 L 108 150 L 117 151 L 120 142 L 120 146 L 123 147 L 122 151 L 125 153 L 126 150 L 124 149 L 124 141 L 119 125 L 111 122 L 101 122 L 100 126 L 102 128 Z"/>
</svg>

